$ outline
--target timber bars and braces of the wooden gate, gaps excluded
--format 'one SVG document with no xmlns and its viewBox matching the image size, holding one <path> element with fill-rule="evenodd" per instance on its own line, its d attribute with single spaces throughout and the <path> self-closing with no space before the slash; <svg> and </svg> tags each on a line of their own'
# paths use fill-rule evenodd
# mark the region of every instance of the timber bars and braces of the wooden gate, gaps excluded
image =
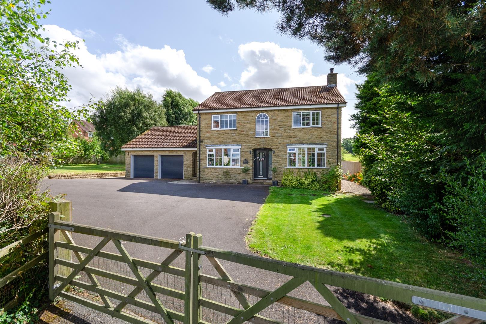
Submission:
<svg viewBox="0 0 486 324">
<path fill-rule="evenodd" d="M 125 308 L 128 306 L 139 307 L 143 311 L 158 314 L 161 316 L 161 321 L 169 324 L 173 324 L 174 321 L 185 324 L 211 323 L 212 318 L 205 313 L 205 310 L 212 310 L 229 316 L 227 324 L 242 324 L 245 321 L 256 324 L 280 324 L 281 322 L 278 319 L 265 317 L 261 314 L 262 310 L 278 303 L 286 307 L 305 310 L 318 316 L 341 320 L 345 323 L 390 324 L 380 319 L 349 311 L 327 285 L 355 290 L 410 305 L 439 309 L 454 315 L 443 324 L 478 324 L 486 320 L 486 301 L 483 299 L 215 249 L 202 245 L 200 234 L 189 233 L 181 241 L 159 239 L 66 222 L 65 220 L 61 221 L 58 213 L 50 215 L 49 230 L 51 299 L 61 296 L 129 323 L 147 324 L 153 322 L 143 314 L 136 316 L 131 313 Z M 56 237 L 58 232 L 65 237 L 64 241 L 60 240 L 60 236 Z M 94 248 L 88 248 L 75 244 L 70 233 L 95 236 L 101 240 Z M 118 253 L 102 250 L 109 241 L 113 242 Z M 171 252 L 160 263 L 142 260 L 130 256 L 129 251 L 125 248 L 125 243 L 128 242 L 169 249 Z M 60 249 L 70 251 L 73 256 L 61 257 L 58 254 Z M 171 265 L 180 255 L 185 257 L 184 269 Z M 123 263 L 130 269 L 132 275 L 93 266 L 90 262 L 95 257 Z M 208 259 L 219 277 L 203 273 L 201 264 L 204 258 Z M 290 279 L 273 291 L 245 285 L 233 281 L 220 260 L 281 273 L 290 276 Z M 69 271 L 60 273 L 59 267 L 65 267 Z M 146 272 L 142 272 L 141 269 L 146 269 Z M 88 281 L 78 279 L 78 274 L 82 272 L 86 273 Z M 146 273 L 149 274 L 146 275 Z M 184 285 L 179 289 L 174 289 L 174 287 L 166 287 L 156 283 L 154 279 L 161 273 L 183 279 Z M 102 278 L 122 283 L 124 286 L 129 285 L 132 288 L 127 292 L 116 291 L 101 284 Z M 329 303 L 329 306 L 289 295 L 306 282 L 309 282 L 315 288 Z M 203 287 L 203 283 L 228 290 L 235 297 L 238 305 L 227 305 L 224 301 L 214 300 L 208 295 L 204 295 L 203 292 L 206 288 Z M 66 291 L 64 288 L 68 286 L 82 288 L 97 294 L 102 304 Z M 141 291 L 146 294 L 145 299 L 139 296 Z M 161 296 L 179 300 L 183 309 L 170 309 L 161 302 Z M 256 297 L 258 300 L 250 302 L 250 296 Z M 305 322 L 305 319 L 301 320 Z"/>
</svg>

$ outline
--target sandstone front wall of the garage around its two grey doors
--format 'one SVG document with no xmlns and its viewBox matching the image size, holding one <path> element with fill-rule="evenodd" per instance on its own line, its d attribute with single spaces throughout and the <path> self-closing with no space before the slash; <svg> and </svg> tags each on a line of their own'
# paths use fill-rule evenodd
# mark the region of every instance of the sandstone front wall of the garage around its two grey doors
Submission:
<svg viewBox="0 0 486 324">
<path fill-rule="evenodd" d="M 154 178 L 158 179 L 158 156 L 161 154 L 183 155 L 184 158 L 184 179 L 192 179 L 192 153 L 195 150 L 170 150 L 170 151 L 125 151 L 125 178 L 131 178 L 131 156 L 130 155 L 153 155 L 154 156 Z"/>
</svg>

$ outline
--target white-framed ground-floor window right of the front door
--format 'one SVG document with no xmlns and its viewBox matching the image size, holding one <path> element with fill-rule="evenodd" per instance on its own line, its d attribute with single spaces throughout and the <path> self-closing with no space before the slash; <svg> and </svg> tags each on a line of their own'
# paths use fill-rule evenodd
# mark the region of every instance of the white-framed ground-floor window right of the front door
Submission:
<svg viewBox="0 0 486 324">
<path fill-rule="evenodd" d="M 287 148 L 288 168 L 326 168 L 326 147 L 296 146 Z"/>
</svg>

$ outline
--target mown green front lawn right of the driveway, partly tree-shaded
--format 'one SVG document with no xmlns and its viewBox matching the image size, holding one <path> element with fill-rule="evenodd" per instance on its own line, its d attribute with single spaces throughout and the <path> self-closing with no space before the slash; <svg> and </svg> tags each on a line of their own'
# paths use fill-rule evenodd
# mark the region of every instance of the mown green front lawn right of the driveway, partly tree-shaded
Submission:
<svg viewBox="0 0 486 324">
<path fill-rule="evenodd" d="M 272 187 L 247 239 L 254 252 L 284 261 L 486 297 L 485 269 L 356 196 Z"/>
</svg>

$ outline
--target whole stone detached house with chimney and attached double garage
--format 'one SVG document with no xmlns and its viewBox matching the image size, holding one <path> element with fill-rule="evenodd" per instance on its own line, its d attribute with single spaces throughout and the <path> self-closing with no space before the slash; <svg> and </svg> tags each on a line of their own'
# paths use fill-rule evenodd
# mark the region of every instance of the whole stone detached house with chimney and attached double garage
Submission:
<svg viewBox="0 0 486 324">
<path fill-rule="evenodd" d="M 153 127 L 124 145 L 126 177 L 253 183 L 327 172 L 341 161 L 336 85 L 331 69 L 324 86 L 216 92 L 194 108 L 197 125 Z"/>
</svg>

